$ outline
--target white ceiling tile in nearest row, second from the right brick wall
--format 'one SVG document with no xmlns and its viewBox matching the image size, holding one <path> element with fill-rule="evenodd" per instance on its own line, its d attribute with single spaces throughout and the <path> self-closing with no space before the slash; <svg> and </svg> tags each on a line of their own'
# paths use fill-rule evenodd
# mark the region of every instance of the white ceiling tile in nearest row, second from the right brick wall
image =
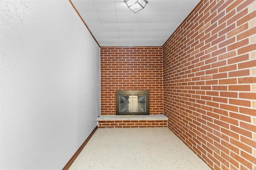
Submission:
<svg viewBox="0 0 256 170">
<path fill-rule="evenodd" d="M 154 12 L 174 12 L 178 3 L 178 0 L 158 0 Z"/>
</svg>

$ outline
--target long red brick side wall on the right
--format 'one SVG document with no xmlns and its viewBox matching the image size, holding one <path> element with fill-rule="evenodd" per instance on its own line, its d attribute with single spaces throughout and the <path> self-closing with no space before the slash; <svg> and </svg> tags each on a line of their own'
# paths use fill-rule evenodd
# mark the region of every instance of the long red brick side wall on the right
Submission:
<svg viewBox="0 0 256 170">
<path fill-rule="evenodd" d="M 256 169 L 256 1 L 204 0 L 163 46 L 168 127 L 216 169 Z"/>
</svg>

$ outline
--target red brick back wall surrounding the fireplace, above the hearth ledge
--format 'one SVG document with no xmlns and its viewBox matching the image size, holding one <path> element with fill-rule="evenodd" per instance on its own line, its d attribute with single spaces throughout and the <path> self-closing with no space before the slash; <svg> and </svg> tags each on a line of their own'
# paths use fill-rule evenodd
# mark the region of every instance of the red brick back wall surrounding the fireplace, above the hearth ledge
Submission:
<svg viewBox="0 0 256 170">
<path fill-rule="evenodd" d="M 163 114 L 162 66 L 162 47 L 102 47 L 101 115 L 116 114 L 116 90 L 149 90 L 150 115 Z"/>
</svg>

